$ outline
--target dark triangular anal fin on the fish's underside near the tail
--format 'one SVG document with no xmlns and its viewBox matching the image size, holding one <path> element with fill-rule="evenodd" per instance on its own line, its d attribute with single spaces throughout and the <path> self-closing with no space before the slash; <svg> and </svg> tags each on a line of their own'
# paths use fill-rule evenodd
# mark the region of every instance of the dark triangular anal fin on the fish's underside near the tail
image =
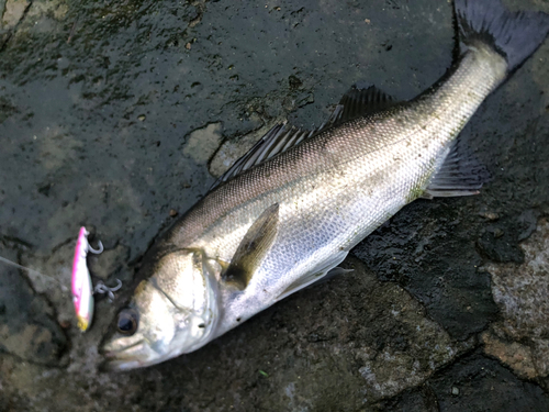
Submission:
<svg viewBox="0 0 549 412">
<path fill-rule="evenodd" d="M 489 179 L 486 168 L 469 153 L 458 137 L 422 197 L 432 199 L 478 194 Z"/>
</svg>

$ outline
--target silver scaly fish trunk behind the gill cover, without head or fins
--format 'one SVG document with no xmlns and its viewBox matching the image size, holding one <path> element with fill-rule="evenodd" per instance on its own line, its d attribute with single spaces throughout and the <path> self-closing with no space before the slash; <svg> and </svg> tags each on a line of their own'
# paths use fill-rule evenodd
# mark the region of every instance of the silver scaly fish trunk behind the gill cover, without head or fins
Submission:
<svg viewBox="0 0 549 412">
<path fill-rule="evenodd" d="M 172 242 L 224 261 L 254 221 L 280 204 L 277 242 L 244 292 L 223 290 L 215 335 L 271 305 L 300 279 L 336 267 L 422 196 L 505 73 L 500 55 L 468 53 L 448 82 L 417 101 L 328 129 L 210 193 L 175 229 Z"/>
</svg>

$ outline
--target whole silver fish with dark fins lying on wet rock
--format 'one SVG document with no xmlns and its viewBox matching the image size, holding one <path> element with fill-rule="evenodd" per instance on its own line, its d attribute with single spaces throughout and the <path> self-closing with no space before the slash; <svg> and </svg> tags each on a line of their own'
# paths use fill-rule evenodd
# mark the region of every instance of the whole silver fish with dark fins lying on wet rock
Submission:
<svg viewBox="0 0 549 412">
<path fill-rule="evenodd" d="M 272 127 L 146 253 L 100 353 L 108 370 L 191 353 L 343 271 L 349 250 L 418 198 L 470 196 L 486 177 L 458 138 L 547 37 L 549 15 L 455 0 L 459 57 L 399 102 L 351 88 L 325 125 Z"/>
</svg>

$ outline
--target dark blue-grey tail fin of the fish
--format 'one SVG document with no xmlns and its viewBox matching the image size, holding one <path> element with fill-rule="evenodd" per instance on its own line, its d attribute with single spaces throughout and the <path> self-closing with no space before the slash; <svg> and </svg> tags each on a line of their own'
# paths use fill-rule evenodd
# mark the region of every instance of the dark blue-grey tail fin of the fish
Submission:
<svg viewBox="0 0 549 412">
<path fill-rule="evenodd" d="M 508 71 L 518 68 L 549 32 L 549 14 L 508 11 L 501 0 L 456 0 L 461 41 L 483 42 L 505 57 Z"/>
</svg>

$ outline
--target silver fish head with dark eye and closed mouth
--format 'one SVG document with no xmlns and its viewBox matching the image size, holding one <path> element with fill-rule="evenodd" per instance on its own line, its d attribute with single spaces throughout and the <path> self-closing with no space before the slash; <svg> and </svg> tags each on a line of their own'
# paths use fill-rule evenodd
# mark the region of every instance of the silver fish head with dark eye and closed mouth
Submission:
<svg viewBox="0 0 549 412">
<path fill-rule="evenodd" d="M 145 268 L 144 268 L 145 269 Z M 206 344 L 219 319 L 216 278 L 197 250 L 169 253 L 148 265 L 101 349 L 105 369 L 158 364 Z"/>
</svg>

